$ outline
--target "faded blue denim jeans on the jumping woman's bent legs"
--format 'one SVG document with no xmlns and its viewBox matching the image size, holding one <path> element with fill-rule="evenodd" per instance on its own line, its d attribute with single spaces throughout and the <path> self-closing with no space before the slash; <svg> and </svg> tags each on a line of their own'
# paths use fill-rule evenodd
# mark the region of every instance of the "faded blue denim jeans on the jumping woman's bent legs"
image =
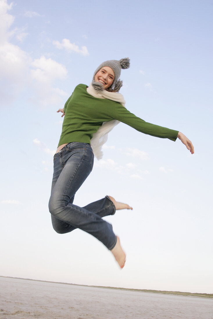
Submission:
<svg viewBox="0 0 213 319">
<path fill-rule="evenodd" d="M 73 204 L 76 191 L 92 171 L 94 155 L 90 144 L 71 142 L 54 155 L 53 161 L 49 210 L 54 230 L 65 234 L 80 228 L 108 249 L 113 249 L 116 236 L 112 225 L 101 218 L 115 213 L 115 206 L 109 197 L 84 207 Z"/>
</svg>

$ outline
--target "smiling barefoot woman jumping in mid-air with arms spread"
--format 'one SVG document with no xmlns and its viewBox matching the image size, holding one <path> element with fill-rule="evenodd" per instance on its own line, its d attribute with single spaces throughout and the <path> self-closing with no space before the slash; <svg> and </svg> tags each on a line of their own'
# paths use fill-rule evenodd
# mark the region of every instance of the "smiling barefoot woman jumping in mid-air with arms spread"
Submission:
<svg viewBox="0 0 213 319">
<path fill-rule="evenodd" d="M 107 134 L 120 121 L 155 137 L 171 141 L 178 137 L 194 153 L 191 141 L 181 132 L 145 122 L 125 108 L 125 100 L 118 93 L 122 86 L 119 77 L 121 69 L 129 66 L 128 58 L 101 63 L 91 84 L 77 85 L 64 108 L 57 111 L 65 117 L 54 155 L 49 201 L 52 226 L 57 233 L 65 234 L 80 228 L 93 235 L 111 250 L 121 268 L 125 264 L 125 253 L 112 225 L 102 217 L 113 215 L 115 210 L 132 207 L 117 202 L 111 196 L 84 207 L 73 204 L 76 191 L 92 171 L 94 156 L 102 157 L 101 146 L 106 142 Z"/>
</svg>

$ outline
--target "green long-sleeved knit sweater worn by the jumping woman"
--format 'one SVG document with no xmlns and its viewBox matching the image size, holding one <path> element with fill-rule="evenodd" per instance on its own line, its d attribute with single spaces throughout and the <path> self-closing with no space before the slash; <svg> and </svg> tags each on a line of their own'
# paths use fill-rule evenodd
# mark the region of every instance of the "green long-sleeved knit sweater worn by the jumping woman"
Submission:
<svg viewBox="0 0 213 319">
<path fill-rule="evenodd" d="M 64 106 L 64 121 L 59 145 L 70 142 L 90 143 L 103 122 L 118 120 L 139 132 L 175 141 L 178 131 L 145 122 L 120 103 L 99 99 L 87 93 L 87 85 L 79 84 Z M 58 145 L 58 146 L 59 146 Z"/>
</svg>

